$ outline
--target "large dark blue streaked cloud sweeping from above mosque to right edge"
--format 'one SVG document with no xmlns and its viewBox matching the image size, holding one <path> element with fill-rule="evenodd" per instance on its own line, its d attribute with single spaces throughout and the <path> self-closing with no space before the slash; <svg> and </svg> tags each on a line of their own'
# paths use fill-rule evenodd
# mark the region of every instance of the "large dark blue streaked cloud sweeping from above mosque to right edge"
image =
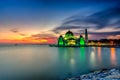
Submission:
<svg viewBox="0 0 120 80">
<path fill-rule="evenodd" d="M 59 33 L 67 29 L 85 29 L 85 28 L 94 28 L 96 30 L 104 28 L 114 28 L 120 29 L 120 7 L 117 5 L 100 12 L 96 12 L 89 16 L 81 17 L 78 15 L 73 15 L 66 20 L 64 20 L 61 26 L 55 28 L 53 31 Z M 116 32 L 104 32 L 104 33 L 95 33 L 90 32 L 91 34 L 120 34 L 119 31 Z"/>
</svg>

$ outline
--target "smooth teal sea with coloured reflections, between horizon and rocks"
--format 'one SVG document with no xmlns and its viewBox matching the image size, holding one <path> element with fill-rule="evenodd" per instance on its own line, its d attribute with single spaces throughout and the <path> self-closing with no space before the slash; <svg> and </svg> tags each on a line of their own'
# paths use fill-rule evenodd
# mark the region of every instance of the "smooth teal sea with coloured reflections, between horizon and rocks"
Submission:
<svg viewBox="0 0 120 80">
<path fill-rule="evenodd" d="M 120 48 L 0 46 L 0 80 L 62 80 L 120 66 Z"/>
</svg>

